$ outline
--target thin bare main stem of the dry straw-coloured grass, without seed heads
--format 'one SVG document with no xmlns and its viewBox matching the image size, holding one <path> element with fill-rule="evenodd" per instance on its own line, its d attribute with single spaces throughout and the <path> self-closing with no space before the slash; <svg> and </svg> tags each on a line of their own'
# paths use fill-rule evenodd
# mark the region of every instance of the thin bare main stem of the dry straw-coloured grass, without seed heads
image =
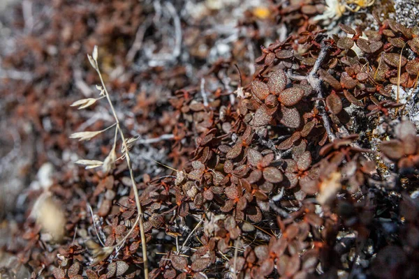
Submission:
<svg viewBox="0 0 419 279">
<path fill-rule="evenodd" d="M 99 66 L 98 66 L 98 61 L 95 60 L 95 63 L 96 63 L 96 72 L 98 73 L 99 79 L 101 80 L 103 90 L 105 91 L 106 99 L 108 100 L 108 103 L 110 105 L 110 110 L 112 110 L 112 114 L 115 117 L 117 130 L 119 130 L 119 135 L 121 136 L 122 144 L 124 145 L 124 148 L 125 148 L 125 152 L 124 152 L 125 153 L 125 159 L 126 159 L 126 163 L 128 164 L 129 176 L 131 178 L 131 186 L 133 188 L 133 193 L 134 193 L 134 197 L 135 197 L 135 204 L 137 205 L 137 210 L 138 210 L 138 217 L 139 217 L 138 219 L 140 220 L 140 237 L 141 237 L 141 247 L 142 247 L 142 259 L 144 261 L 144 278 L 148 279 L 149 276 L 148 276 L 147 246 L 146 246 L 146 243 L 145 243 L 144 224 L 143 224 L 143 220 L 142 220 L 142 209 L 141 209 L 141 204 L 140 204 L 140 197 L 138 196 L 137 184 L 135 183 L 135 179 L 134 179 L 133 168 L 131 166 L 131 158 L 130 158 L 129 153 L 128 153 L 128 146 L 126 144 L 124 133 L 122 133 L 122 129 L 121 129 L 121 126 L 120 126 L 120 123 L 119 123 L 117 112 L 115 112 L 115 108 L 112 105 L 112 101 L 110 100 L 110 96 L 109 96 L 108 90 L 106 89 L 105 82 L 103 82 L 101 70 L 99 70 Z M 135 226 L 133 226 L 133 227 L 135 227 Z"/>
</svg>

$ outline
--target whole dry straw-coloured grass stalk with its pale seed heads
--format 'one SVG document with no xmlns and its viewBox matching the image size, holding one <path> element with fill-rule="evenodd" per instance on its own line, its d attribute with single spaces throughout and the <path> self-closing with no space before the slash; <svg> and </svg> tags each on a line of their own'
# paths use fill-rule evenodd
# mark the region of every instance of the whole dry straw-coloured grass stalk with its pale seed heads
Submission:
<svg viewBox="0 0 419 279">
<path fill-rule="evenodd" d="M 138 218 L 135 220 L 135 223 L 133 225 L 133 227 L 131 228 L 130 232 L 128 232 L 128 234 L 126 234 L 126 236 L 124 237 L 124 239 L 122 239 L 122 241 L 119 241 L 119 243 L 117 243 L 117 245 L 115 246 L 110 246 L 110 247 L 98 247 L 97 251 L 94 254 L 97 254 L 98 257 L 96 257 L 96 261 L 98 259 L 105 259 L 106 257 L 108 257 L 111 252 L 117 248 L 117 246 L 120 246 L 124 243 L 124 241 L 126 241 L 126 239 L 128 238 L 129 235 L 131 235 L 131 232 L 133 231 L 133 229 L 135 228 L 135 226 L 140 223 L 140 237 L 141 237 L 141 246 L 142 246 L 142 257 L 144 260 L 144 278 L 149 278 L 148 275 L 148 266 L 147 266 L 147 247 L 146 247 L 146 240 L 145 240 L 145 233 L 144 233 L 144 225 L 143 225 L 143 219 L 142 219 L 142 209 L 141 209 L 141 204 L 140 204 L 140 198 L 138 196 L 138 189 L 137 189 L 137 185 L 135 183 L 134 180 L 134 175 L 133 175 L 133 169 L 132 169 L 132 165 L 131 165 L 131 158 L 129 156 L 129 149 L 130 146 L 128 146 L 129 144 L 131 144 L 133 142 L 133 140 L 131 139 L 126 139 L 124 133 L 122 132 L 122 128 L 120 125 L 120 121 L 118 119 L 117 113 L 115 112 L 115 108 L 112 104 L 112 101 L 110 100 L 110 95 L 108 93 L 108 90 L 106 89 L 105 86 L 105 82 L 103 82 L 103 77 L 101 74 L 101 70 L 99 70 L 99 66 L 98 66 L 98 48 L 97 46 L 94 47 L 93 53 L 91 55 L 87 54 L 87 58 L 89 59 L 89 62 L 91 64 L 91 66 L 96 70 L 96 73 L 98 73 L 99 79 L 101 80 L 101 86 L 97 86 L 96 88 L 101 91 L 100 93 L 100 98 L 97 99 L 83 99 L 83 100 L 79 100 L 76 101 L 75 103 L 72 104 L 72 106 L 77 106 L 80 105 L 79 109 L 85 108 L 85 107 L 89 107 L 89 105 L 93 105 L 94 103 L 96 103 L 96 100 L 99 100 L 101 98 L 106 98 L 106 100 L 108 100 L 108 103 L 110 105 L 110 110 L 115 118 L 115 124 L 113 124 L 112 126 L 105 128 L 104 130 L 100 130 L 100 131 L 94 131 L 94 132 L 79 132 L 79 133 L 73 133 L 73 135 L 71 135 L 71 138 L 78 138 L 80 140 L 90 140 L 92 137 L 104 132 L 105 130 L 108 130 L 112 127 L 115 127 L 115 139 L 113 142 L 113 146 L 112 146 L 112 150 L 110 151 L 110 153 L 108 154 L 108 156 L 105 158 L 105 160 L 103 162 L 98 161 L 98 160 L 78 160 L 76 163 L 81 164 L 81 165 L 86 165 L 86 169 L 91 169 L 94 167 L 102 167 L 103 172 L 108 173 L 110 171 L 112 171 L 112 169 L 115 169 L 115 163 L 117 160 L 119 160 L 119 158 L 117 158 L 117 153 L 115 151 L 116 149 L 116 145 L 117 145 L 117 138 L 118 135 L 119 137 L 121 137 L 122 140 L 122 153 L 123 156 L 120 158 L 124 158 L 126 160 L 126 163 L 128 165 L 128 171 L 130 174 L 130 178 L 131 178 L 131 186 L 133 188 L 133 193 L 135 196 L 135 204 L 137 206 L 137 210 L 138 210 Z M 100 256 L 99 256 L 100 255 Z"/>
</svg>

